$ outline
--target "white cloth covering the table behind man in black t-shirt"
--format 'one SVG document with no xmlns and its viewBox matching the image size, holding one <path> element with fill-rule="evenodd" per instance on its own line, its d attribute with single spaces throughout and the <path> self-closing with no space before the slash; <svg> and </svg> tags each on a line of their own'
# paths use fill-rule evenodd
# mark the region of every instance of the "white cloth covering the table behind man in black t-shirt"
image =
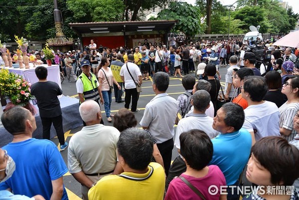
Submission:
<svg viewBox="0 0 299 200">
<path fill-rule="evenodd" d="M 35 66 L 46 67 L 48 69 L 47 80 L 56 82 L 61 88 L 59 65 L 48 66 L 46 64 L 42 64 L 42 65 L 35 65 Z M 1 68 L 8 69 L 9 72 L 20 74 L 21 76 L 23 76 L 24 79 L 26 79 L 31 84 L 38 82 L 38 78 L 36 77 L 34 71 L 36 67 L 31 66 L 31 63 L 29 69 L 25 69 L 25 68 L 20 69 L 20 68 L 13 68 L 13 67 L 1 67 Z"/>
</svg>

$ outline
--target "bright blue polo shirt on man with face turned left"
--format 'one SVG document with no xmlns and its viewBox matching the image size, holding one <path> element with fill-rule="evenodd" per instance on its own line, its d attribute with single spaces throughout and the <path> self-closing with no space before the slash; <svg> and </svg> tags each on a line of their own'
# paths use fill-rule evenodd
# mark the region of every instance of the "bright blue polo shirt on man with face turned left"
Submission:
<svg viewBox="0 0 299 200">
<path fill-rule="evenodd" d="M 213 157 L 209 165 L 217 165 L 226 179 L 228 186 L 239 179 L 247 164 L 251 150 L 251 135 L 241 128 L 239 131 L 220 134 L 212 139 Z"/>
</svg>

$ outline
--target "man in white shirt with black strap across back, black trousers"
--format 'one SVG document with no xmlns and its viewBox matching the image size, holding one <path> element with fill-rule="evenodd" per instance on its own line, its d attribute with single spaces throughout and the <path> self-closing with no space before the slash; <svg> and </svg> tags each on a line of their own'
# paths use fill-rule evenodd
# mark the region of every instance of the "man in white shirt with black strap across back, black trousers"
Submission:
<svg viewBox="0 0 299 200">
<path fill-rule="evenodd" d="M 130 73 L 132 76 L 130 75 Z M 123 82 L 125 83 L 125 89 L 126 89 L 125 108 L 129 109 L 131 103 L 131 97 L 132 97 L 131 111 L 133 113 L 139 112 L 140 110 L 137 109 L 139 92 L 137 92 L 136 83 L 142 84 L 142 74 L 138 65 L 134 64 L 133 54 L 128 55 L 128 62 L 122 66 L 120 75 Z"/>
</svg>

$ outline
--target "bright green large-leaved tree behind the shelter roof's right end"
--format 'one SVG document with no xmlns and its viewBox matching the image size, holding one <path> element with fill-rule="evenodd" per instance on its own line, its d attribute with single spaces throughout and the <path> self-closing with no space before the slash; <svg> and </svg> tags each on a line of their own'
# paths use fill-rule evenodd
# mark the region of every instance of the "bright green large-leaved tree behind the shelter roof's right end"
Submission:
<svg viewBox="0 0 299 200">
<path fill-rule="evenodd" d="M 182 31 L 187 36 L 203 32 L 200 24 L 200 10 L 186 2 L 171 2 L 167 9 L 158 13 L 156 19 L 178 20 L 173 27 L 174 31 Z"/>
</svg>

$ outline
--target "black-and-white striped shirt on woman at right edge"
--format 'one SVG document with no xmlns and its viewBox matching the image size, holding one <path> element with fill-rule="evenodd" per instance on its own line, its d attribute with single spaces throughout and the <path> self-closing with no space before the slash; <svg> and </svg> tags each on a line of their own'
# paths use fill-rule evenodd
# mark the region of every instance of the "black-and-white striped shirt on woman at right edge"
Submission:
<svg viewBox="0 0 299 200">
<path fill-rule="evenodd" d="M 289 136 L 283 136 L 288 142 L 292 141 L 297 134 L 297 131 L 294 129 L 293 119 L 296 113 L 299 110 L 299 103 L 284 103 L 279 108 L 280 119 L 279 119 L 279 127 L 285 128 L 288 130 L 292 130 Z"/>
</svg>

